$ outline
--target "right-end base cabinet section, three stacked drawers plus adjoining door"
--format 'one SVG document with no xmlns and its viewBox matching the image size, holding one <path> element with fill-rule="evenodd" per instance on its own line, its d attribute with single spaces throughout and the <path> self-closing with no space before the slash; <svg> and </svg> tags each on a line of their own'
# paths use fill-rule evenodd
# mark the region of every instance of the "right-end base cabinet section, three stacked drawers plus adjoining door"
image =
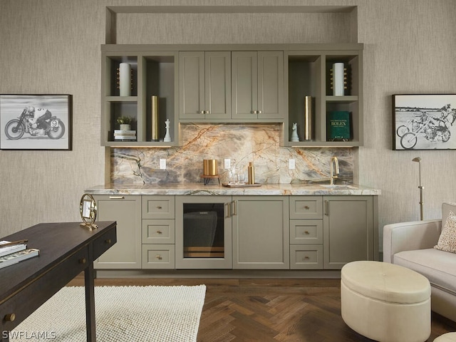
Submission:
<svg viewBox="0 0 456 342">
<path fill-rule="evenodd" d="M 291 196 L 290 268 L 341 269 L 378 259 L 373 196 Z"/>
</svg>

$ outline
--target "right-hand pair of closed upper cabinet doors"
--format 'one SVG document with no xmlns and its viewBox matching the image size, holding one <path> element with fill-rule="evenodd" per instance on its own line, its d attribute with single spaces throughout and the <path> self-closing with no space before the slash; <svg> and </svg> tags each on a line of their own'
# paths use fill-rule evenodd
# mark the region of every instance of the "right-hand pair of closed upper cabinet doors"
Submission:
<svg viewBox="0 0 456 342">
<path fill-rule="evenodd" d="M 284 52 L 232 52 L 232 118 L 284 119 Z"/>
</svg>

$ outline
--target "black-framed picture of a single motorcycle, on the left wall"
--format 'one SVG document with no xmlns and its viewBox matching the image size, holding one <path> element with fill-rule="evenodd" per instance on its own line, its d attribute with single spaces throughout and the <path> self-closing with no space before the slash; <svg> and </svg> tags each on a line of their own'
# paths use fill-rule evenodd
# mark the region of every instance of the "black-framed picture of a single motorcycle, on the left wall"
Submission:
<svg viewBox="0 0 456 342">
<path fill-rule="evenodd" d="M 1 150 L 71 150 L 72 95 L 0 95 Z"/>
</svg>

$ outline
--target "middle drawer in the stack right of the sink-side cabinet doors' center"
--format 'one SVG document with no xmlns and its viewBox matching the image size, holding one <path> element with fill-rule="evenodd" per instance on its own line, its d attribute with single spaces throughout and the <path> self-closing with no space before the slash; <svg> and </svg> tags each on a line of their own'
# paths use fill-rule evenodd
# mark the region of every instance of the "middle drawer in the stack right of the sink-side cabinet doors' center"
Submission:
<svg viewBox="0 0 456 342">
<path fill-rule="evenodd" d="M 290 244 L 323 244 L 323 220 L 291 219 Z"/>
</svg>

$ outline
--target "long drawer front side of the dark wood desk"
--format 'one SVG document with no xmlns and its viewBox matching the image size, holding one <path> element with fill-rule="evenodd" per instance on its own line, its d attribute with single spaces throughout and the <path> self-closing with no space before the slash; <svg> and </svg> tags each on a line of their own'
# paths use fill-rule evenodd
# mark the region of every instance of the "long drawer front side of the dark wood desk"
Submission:
<svg viewBox="0 0 456 342">
<path fill-rule="evenodd" d="M 27 261 L 22 261 L 27 262 Z M 13 330 L 21 321 L 30 316 L 38 307 L 47 301 L 53 294 L 65 286 L 92 262 L 88 259 L 88 246 L 79 249 L 75 254 L 54 266 L 53 269 L 38 277 L 28 286 L 21 289 L 19 294 L 0 305 L 1 331 Z M 11 266 L 14 267 L 14 266 Z M 40 293 L 40 296 L 36 296 Z M 84 301 L 84 296 L 81 298 Z M 6 315 L 14 314 L 14 321 L 6 321 Z M 0 338 L 1 339 L 1 338 Z"/>
</svg>

